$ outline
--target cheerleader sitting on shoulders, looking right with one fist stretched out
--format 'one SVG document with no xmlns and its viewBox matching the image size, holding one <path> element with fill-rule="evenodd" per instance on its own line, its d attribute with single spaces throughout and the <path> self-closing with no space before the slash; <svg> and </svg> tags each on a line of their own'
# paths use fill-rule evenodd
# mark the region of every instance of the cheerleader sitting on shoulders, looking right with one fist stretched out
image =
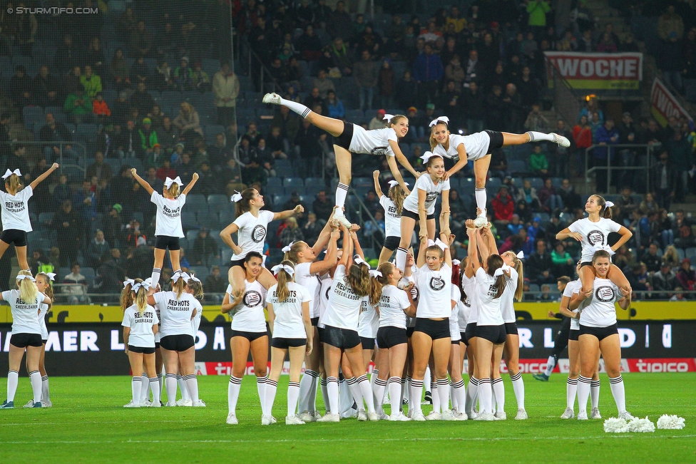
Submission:
<svg viewBox="0 0 696 464">
<path fill-rule="evenodd" d="M 232 201 L 237 203 L 237 219 L 220 232 L 222 242 L 232 249 L 232 261 L 228 278 L 232 285 L 232 296 L 235 306 L 242 302 L 245 284 L 244 277 L 247 254 L 255 252 L 263 253 L 263 244 L 267 234 L 268 223 L 275 220 L 285 220 L 288 217 L 298 215 L 305 211 L 302 205 L 297 205 L 294 210 L 272 212 L 261 210 L 265 206 L 263 195 L 255 188 L 247 188 L 242 192 L 232 195 Z M 237 243 L 232 240 L 232 234 L 237 232 Z M 259 275 L 255 277 L 264 289 L 269 289 L 276 284 L 275 277 L 268 269 L 258 269 Z M 232 301 L 230 302 L 232 303 Z"/>
</svg>

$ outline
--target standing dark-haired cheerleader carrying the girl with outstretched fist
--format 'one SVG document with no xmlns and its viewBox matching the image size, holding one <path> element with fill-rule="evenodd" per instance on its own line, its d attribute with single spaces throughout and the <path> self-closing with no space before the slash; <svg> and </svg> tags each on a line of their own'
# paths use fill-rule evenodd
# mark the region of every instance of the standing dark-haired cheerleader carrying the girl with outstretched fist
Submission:
<svg viewBox="0 0 696 464">
<path fill-rule="evenodd" d="M 232 297 L 232 285 L 227 286 L 227 292 L 222 299 L 222 314 L 232 313 L 232 376 L 227 386 L 227 423 L 237 425 L 237 399 L 239 398 L 242 378 L 247 368 L 247 359 L 251 351 L 256 375 L 256 389 L 261 402 L 261 410 L 265 409 L 265 392 L 268 381 L 268 334 L 263 308 L 266 301 L 266 288 L 259 282 L 263 272 L 263 257 L 257 252 L 248 252 L 243 259 L 245 270 L 245 287 L 242 297 Z M 275 278 L 274 278 L 275 280 Z M 231 301 L 231 302 L 230 302 Z M 264 418 L 262 418 L 262 423 Z M 270 423 L 275 423 L 271 416 Z"/>
</svg>

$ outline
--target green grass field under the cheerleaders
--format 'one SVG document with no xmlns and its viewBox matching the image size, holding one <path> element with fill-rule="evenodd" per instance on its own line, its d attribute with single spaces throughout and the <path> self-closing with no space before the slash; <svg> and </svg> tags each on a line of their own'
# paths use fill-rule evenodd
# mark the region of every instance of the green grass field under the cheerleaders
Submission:
<svg viewBox="0 0 696 464">
<path fill-rule="evenodd" d="M 665 413 L 686 427 L 655 433 L 609 434 L 603 421 L 563 421 L 565 376 L 548 383 L 524 376 L 528 421 L 513 421 L 516 401 L 507 376 L 508 421 L 310 423 L 285 426 L 287 376 L 278 385 L 275 426 L 261 426 L 253 377 L 245 377 L 239 426 L 227 426 L 227 381 L 198 378 L 207 408 L 125 409 L 130 378 L 52 377 L 53 408 L 0 411 L 0 463 L 382 463 L 382 462 L 696 462 L 695 373 L 627 373 L 628 410 L 656 423 Z M 600 411 L 616 415 L 605 375 Z M 4 388 L 0 396 L 4 398 Z M 20 378 L 15 403 L 31 398 Z M 319 401 L 321 395 L 319 394 Z M 428 410 L 424 406 L 424 410 Z M 322 408 L 323 410 L 323 408 Z M 577 412 L 577 406 L 575 408 Z M 389 413 L 389 408 L 387 408 Z M 384 458 L 387 458 L 385 461 Z"/>
</svg>

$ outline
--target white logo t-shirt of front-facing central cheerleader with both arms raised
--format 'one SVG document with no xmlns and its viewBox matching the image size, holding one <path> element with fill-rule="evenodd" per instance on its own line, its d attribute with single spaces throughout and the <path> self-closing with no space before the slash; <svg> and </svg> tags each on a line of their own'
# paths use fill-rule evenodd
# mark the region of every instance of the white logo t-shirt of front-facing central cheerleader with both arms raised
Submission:
<svg viewBox="0 0 696 464">
<path fill-rule="evenodd" d="M 449 317 L 452 312 L 452 269 L 442 263 L 438 271 L 431 271 L 423 264 L 416 274 L 416 285 L 420 293 L 416 317 Z"/>
</svg>

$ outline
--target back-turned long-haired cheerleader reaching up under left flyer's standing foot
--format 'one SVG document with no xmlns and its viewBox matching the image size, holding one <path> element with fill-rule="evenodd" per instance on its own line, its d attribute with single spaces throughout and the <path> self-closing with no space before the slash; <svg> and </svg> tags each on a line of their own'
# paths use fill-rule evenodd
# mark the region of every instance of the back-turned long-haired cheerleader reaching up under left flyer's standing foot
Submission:
<svg viewBox="0 0 696 464">
<path fill-rule="evenodd" d="M 344 250 L 334 273 L 334 282 L 329 290 L 327 309 L 321 322 L 324 324 L 324 368 L 327 371 L 327 393 L 329 412 L 318 422 L 339 422 L 338 373 L 342 354 L 345 353 L 350 370 L 360 373 L 352 383 L 359 388 L 362 400 L 367 403 L 367 415 L 358 416 L 359 421 L 378 421 L 369 381 L 365 374 L 362 345 L 358 335 L 358 321 L 362 299 L 369 298 L 370 304 L 379 300 L 379 291 L 374 279 L 369 276 L 369 264 L 359 254 L 353 259 L 353 241 L 357 234 L 342 225 Z M 354 388 L 354 390 L 357 390 Z M 354 393 L 354 396 L 357 396 Z M 362 400 L 359 405 L 362 404 Z M 360 409 L 360 408 L 359 408 Z"/>
</svg>

